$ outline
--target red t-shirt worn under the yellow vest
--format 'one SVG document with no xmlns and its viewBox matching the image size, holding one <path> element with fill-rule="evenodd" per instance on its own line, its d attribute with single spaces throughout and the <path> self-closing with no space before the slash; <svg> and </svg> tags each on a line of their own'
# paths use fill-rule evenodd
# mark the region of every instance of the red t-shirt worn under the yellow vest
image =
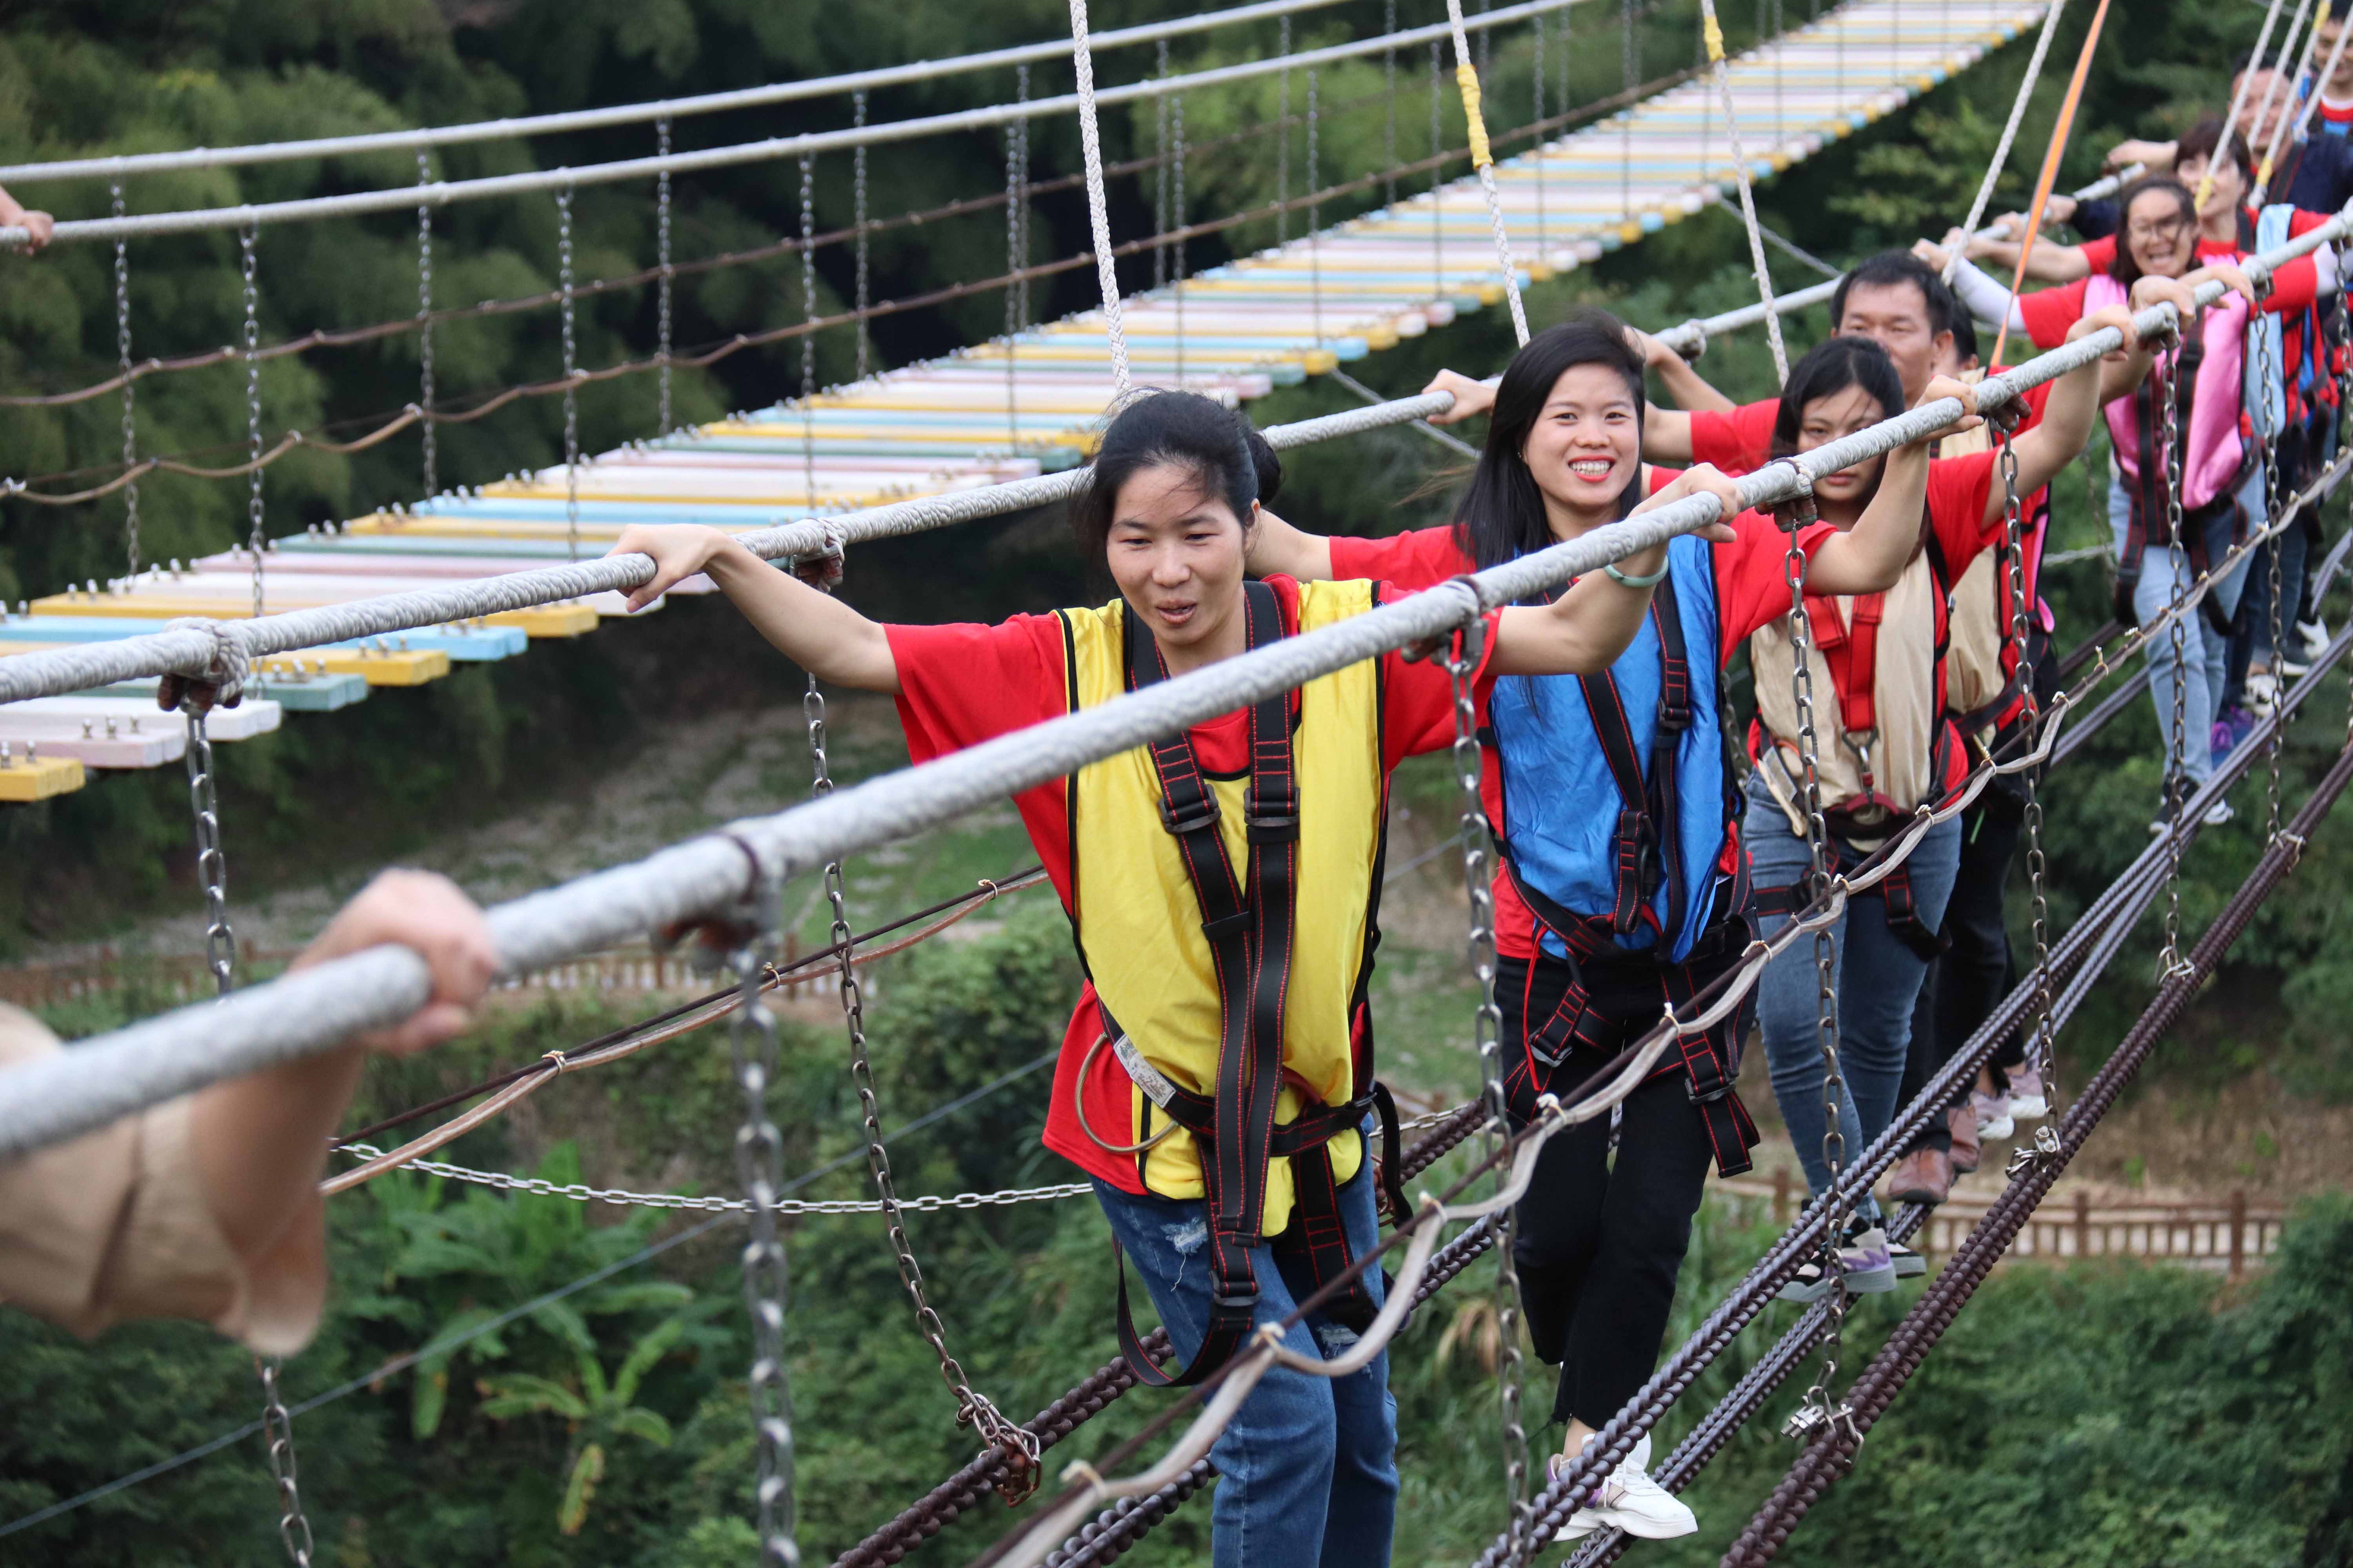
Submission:
<svg viewBox="0 0 2353 1568">
<path fill-rule="evenodd" d="M 1299 583 L 1271 576 L 1266 583 L 1282 604 L 1285 628 L 1299 628 Z M 1381 590 L 1384 604 L 1402 597 Z M 1059 616 L 1014 616 L 1000 625 L 889 625 L 889 651 L 899 665 L 899 724 L 906 731 L 908 757 L 922 766 L 946 752 L 979 745 L 1014 729 L 1059 719 L 1068 710 L 1064 684 L 1064 639 Z M 1494 639 L 1487 639 L 1494 646 Z M 1480 686 L 1487 675 L 1480 670 Z M 1195 724 L 1193 750 L 1212 773 L 1249 769 L 1249 710 Z M 1409 663 L 1400 654 L 1381 656 L 1381 766 L 1393 769 L 1405 757 L 1433 752 L 1454 743 L 1454 684 L 1438 661 Z M 1068 780 L 1024 790 L 1014 797 L 1021 825 L 1045 863 L 1047 879 L 1071 907 L 1071 816 Z M 1078 994 L 1071 1027 L 1061 1037 L 1061 1060 L 1054 1067 L 1054 1098 L 1047 1107 L 1045 1145 L 1075 1161 L 1089 1175 L 1144 1192 L 1136 1161 L 1101 1150 L 1078 1126 L 1071 1088 L 1078 1065 L 1101 1034 L 1094 985 Z M 1127 1126 L 1129 1079 L 1115 1058 L 1096 1063 L 1087 1084 L 1087 1114 L 1094 1126 Z"/>
</svg>

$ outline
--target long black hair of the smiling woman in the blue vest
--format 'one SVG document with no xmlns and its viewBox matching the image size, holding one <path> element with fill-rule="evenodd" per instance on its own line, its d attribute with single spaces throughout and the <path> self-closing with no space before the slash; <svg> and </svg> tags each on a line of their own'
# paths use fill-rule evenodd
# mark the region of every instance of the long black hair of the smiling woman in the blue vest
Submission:
<svg viewBox="0 0 2353 1568">
<path fill-rule="evenodd" d="M 1546 327 L 1504 367 L 1504 383 L 1494 390 L 1494 414 L 1487 423 L 1487 447 L 1471 470 L 1471 487 L 1454 508 L 1454 545 L 1475 559 L 1480 569 L 1518 559 L 1529 550 L 1553 543 L 1553 524 L 1544 515 L 1544 491 L 1537 475 L 1527 473 L 1529 430 L 1544 414 L 1553 383 L 1579 364 L 1605 364 L 1626 378 L 1633 397 L 1633 428 L 1640 444 L 1642 416 L 1642 355 L 1626 339 L 1626 324 L 1598 306 L 1581 306 L 1558 327 Z M 1642 501 L 1642 468 L 1619 494 L 1619 517 Z"/>
</svg>

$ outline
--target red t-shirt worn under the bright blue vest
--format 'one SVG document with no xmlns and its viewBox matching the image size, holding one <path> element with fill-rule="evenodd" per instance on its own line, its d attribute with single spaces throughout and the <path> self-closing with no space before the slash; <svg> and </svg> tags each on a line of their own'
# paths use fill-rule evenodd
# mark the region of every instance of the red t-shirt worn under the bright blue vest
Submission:
<svg viewBox="0 0 2353 1568">
<path fill-rule="evenodd" d="M 1729 545 L 1715 545 L 1715 649 L 1720 661 L 1748 642 L 1760 625 L 1788 614 L 1788 536 L 1765 512 L 1741 512 L 1732 520 L 1739 534 Z M 1798 536 L 1798 548 L 1807 557 L 1831 536 L 1828 524 L 1817 524 Z M 1377 578 L 1398 588 L 1431 588 L 1452 576 L 1473 571 L 1475 562 L 1454 545 L 1454 529 L 1414 529 L 1388 538 L 1332 538 L 1334 578 Z M 1480 726 L 1487 724 L 1487 698 L 1480 693 Z M 1480 797 L 1487 804 L 1487 820 L 1504 820 L 1504 769 L 1494 748 L 1480 748 Z M 1739 865 L 1739 839 L 1725 844 L 1720 870 Z M 1529 914 L 1520 889 L 1499 867 L 1494 877 L 1494 945 L 1508 959 L 1534 959 L 1537 917 Z"/>
</svg>

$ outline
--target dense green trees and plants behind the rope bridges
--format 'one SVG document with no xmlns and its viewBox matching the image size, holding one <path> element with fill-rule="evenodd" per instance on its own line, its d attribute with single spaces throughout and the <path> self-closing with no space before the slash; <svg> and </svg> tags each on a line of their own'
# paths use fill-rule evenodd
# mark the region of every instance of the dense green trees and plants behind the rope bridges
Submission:
<svg viewBox="0 0 2353 1568">
<path fill-rule="evenodd" d="M 1179 14 L 1179 5 L 1108 0 L 1094 26 Z M 1440 12 L 1400 5 L 1400 21 Z M 1727 7 L 1734 47 L 1772 12 L 1791 24 L 1812 5 Z M 1920 0 L 1918 9 L 1932 9 Z M 1640 7 L 1635 75 L 1689 68 L 1697 7 Z M 1572 14 L 1569 103 L 1624 85 L 1617 7 Z M 2002 202 L 2024 200 L 2089 7 L 2059 28 L 2054 68 L 2026 120 Z M 2224 96 L 2224 63 L 2252 42 L 2259 7 L 2146 0 L 2113 12 L 2089 80 L 2061 188 L 2097 174 L 2127 134 L 2174 132 Z M 647 96 L 680 96 L 946 56 L 1054 38 L 1068 26 L 1049 0 L 991 7 L 899 5 L 774 7 L 741 0 L 351 0 L 292 5 L 5 5 L 0 7 L 0 158 L 35 160 L 113 150 L 320 136 L 398 125 L 541 113 Z M 1301 16 L 1294 45 L 1367 35 L 1381 7 L 1367 0 Z M 1179 42 L 1174 68 L 1264 54 L 1275 26 Z M 1760 188 L 1767 223 L 1800 247 L 1852 261 L 1955 221 L 1993 150 L 2026 49 L 2012 47 L 1918 106 L 1875 125 Z M 1144 52 L 1111 56 L 1104 80 L 1146 71 Z M 1529 113 L 1525 33 L 1501 33 L 1487 68 L 1489 125 Z M 1066 89 L 1066 68 L 1040 66 L 1031 92 Z M 1012 73 L 951 78 L 875 94 L 875 120 L 939 113 L 1012 96 Z M 1294 80 L 1294 94 L 1301 82 Z M 1329 71 L 1322 127 L 1325 179 L 1381 167 L 1386 78 L 1379 59 Z M 1188 214 L 1214 216 L 1301 188 L 1301 143 L 1252 134 L 1278 115 L 1261 82 L 1188 101 L 1193 136 L 1226 136 L 1188 167 Z M 1292 99 L 1297 115 L 1304 96 Z M 1426 63 L 1400 61 L 1400 158 L 1428 150 Z M 1558 113 L 1560 101 L 1553 96 Z M 718 146 L 847 122 L 824 99 L 675 127 L 680 148 Z M 1106 158 L 1146 158 L 1151 110 L 1106 122 Z M 1459 136 L 1447 103 L 1442 141 Z M 431 160 L 433 176 L 581 165 L 652 150 L 652 127 L 485 143 Z M 1075 129 L 1038 122 L 1033 181 L 1078 169 Z M 1461 169 L 1449 169 L 1459 174 Z M 141 179 L 132 212 L 278 200 L 416 179 L 405 155 L 278 165 Z M 868 167 L 875 216 L 929 209 L 1005 186 L 998 136 L 878 150 Z M 1412 188 L 1412 183 L 1407 183 Z M 19 190 L 59 216 L 96 216 L 101 183 Z M 1367 193 L 1358 205 L 1374 205 Z M 816 169 L 816 228 L 849 221 L 847 158 Z M 1155 186 L 1139 172 L 1113 186 L 1115 237 L 1151 233 Z M 1075 190 L 1035 202 L 1033 261 L 1085 244 Z M 1325 221 L 1351 209 L 1332 202 Z M 1292 233 L 1299 219 L 1292 223 Z M 579 277 L 619 277 L 654 259 L 652 190 L 588 188 L 576 202 Z M 680 263 L 774 244 L 798 233 L 800 183 L 791 165 L 751 165 L 685 179 L 675 195 Z M 1205 268 L 1275 237 L 1273 221 L 1198 240 Z M 268 230 L 259 242 L 264 341 L 391 320 L 416 308 L 416 233 L 402 216 Z M 1541 284 L 1541 324 L 1577 301 L 1605 301 L 1628 320 L 1664 327 L 1734 303 L 1753 289 L 1737 223 L 1711 212 L 1652 235 L 1600 266 Z M 61 390 L 115 364 L 113 256 L 59 247 L 38 261 L 0 259 L 0 390 Z M 873 240 L 873 296 L 899 299 L 1005 270 L 1002 209 L 892 228 Z M 1146 280 L 1129 263 L 1127 280 Z M 1774 259 L 1784 287 L 1802 273 Z M 435 303 L 518 299 L 553 287 L 553 202 L 485 202 L 435 214 Z M 235 341 L 242 306 L 233 235 L 134 244 L 132 334 L 139 355 L 191 353 Z M 847 247 L 819 252 L 819 310 L 854 292 Z M 1031 313 L 1049 320 L 1089 301 L 1092 273 L 1066 270 L 1033 287 Z M 802 284 L 791 256 L 713 268 L 678 282 L 678 346 L 791 324 Z M 602 292 L 581 303 L 581 364 L 642 357 L 654 346 L 652 289 Z M 871 353 L 896 364 L 1002 331 L 1002 292 L 878 317 Z M 1793 322 L 1798 341 L 1819 317 Z M 1381 393 L 1405 393 L 1440 364 L 1487 371 L 1508 353 L 1501 310 L 1471 315 L 1419 343 L 1351 367 Z M 440 397 L 464 407 L 515 381 L 558 369 L 553 313 L 522 310 L 445 322 L 435 331 Z M 819 383 L 852 374 L 849 329 L 814 346 Z M 1765 395 L 1772 371 L 1760 341 L 1711 346 L 1704 371 L 1725 390 Z M 680 423 L 755 409 L 800 388 L 798 346 L 739 353 L 711 371 L 678 374 Z M 144 451 L 242 451 L 242 367 L 158 376 L 139 390 Z M 416 339 L 275 360 L 264 374 L 266 435 L 282 428 L 358 430 L 416 397 Z M 1353 407 L 1325 381 L 1254 404 L 1261 423 Z M 0 468 L 59 477 L 71 489 L 104 477 L 120 454 L 120 407 L 99 397 L 71 409 L 0 409 Z M 631 376 L 581 397 L 584 447 L 654 433 L 654 381 Z M 1475 437 L 1475 430 L 1471 433 Z M 555 461 L 555 400 L 522 400 L 440 437 L 442 482 L 485 482 Z M 1285 510 L 1327 529 L 1388 531 L 1445 508 L 1431 489 L 1445 463 L 1414 433 L 1388 433 L 1299 454 Z M 2089 454 L 2087 468 L 2099 461 Z M 271 531 L 351 517 L 419 494 L 414 435 L 358 456 L 304 451 L 268 473 Z M 242 534 L 242 482 L 158 477 L 141 489 L 148 559 L 219 550 Z M 2332 534 L 2341 520 L 2332 512 Z M 2057 543 L 2097 543 L 2104 524 L 2082 487 L 2059 484 Z M 0 597 L 52 592 L 120 571 L 122 505 L 35 508 L 0 503 Z M 2054 574 L 2061 642 L 2106 618 L 2097 564 Z M 1052 517 L 1005 520 L 861 552 L 849 592 L 861 607 L 908 618 L 986 618 L 1087 592 Z M 224 813 L 233 823 L 240 898 L 273 889 L 348 884 L 393 856 L 424 856 L 459 827 L 499 820 L 520 804 L 591 790 L 659 755 L 694 715 L 776 701 L 779 677 L 722 607 L 685 604 L 656 623 L 607 630 L 572 646 L 473 668 L 416 693 L 332 719 L 311 719 L 268 743 L 224 748 Z M 2287 752 L 2294 792 L 2334 752 L 2344 708 L 2318 701 Z M 861 766 L 889 766 L 887 748 Z M 2134 708 L 2087 748 L 2052 797 L 2054 919 L 2066 924 L 2139 849 L 2155 799 L 2155 726 Z M 1442 797 L 1440 797 L 1442 799 Z M 784 804 L 784 799 L 769 802 Z M 2259 811 L 2257 811 L 2259 813 Z M 2202 926 L 2257 853 L 2249 827 L 2205 835 L 2186 867 L 2184 924 Z M 0 950 L 54 947 L 132 929 L 144 914 L 193 898 L 186 804 L 176 776 L 108 778 L 40 809 L 0 813 Z M 2221 1091 L 2264 1079 L 2299 1100 L 2353 1093 L 2353 945 L 2344 933 L 2353 830 L 2332 823 L 2301 875 L 2264 910 L 2214 992 L 2177 1032 L 2153 1077 L 2177 1091 Z M 986 867 L 984 867 L 986 870 Z M 913 900 L 911 900 L 913 903 Z M 875 910 L 878 914 L 882 910 Z M 2153 943 L 2127 947 L 2115 978 L 2061 1041 L 2073 1081 L 2146 1001 Z M 1386 957 L 1386 954 L 1384 954 Z M 1035 1063 L 1059 1039 L 1075 985 L 1068 943 L 1047 910 L 1024 910 L 981 940 L 911 954 L 875 1009 L 875 1056 L 892 1124 Z M 66 1032 L 101 1027 L 153 999 L 136 992 L 104 1009 L 61 1011 Z M 424 1063 L 384 1065 L 355 1117 L 428 1098 L 482 1067 L 529 1060 L 624 1023 L 593 1001 L 565 999 L 501 1013 L 475 1039 Z M 779 1095 L 791 1105 L 791 1168 L 854 1154 L 852 1098 L 840 1030 L 795 1020 Z M 1391 1039 L 1409 1032 L 1393 1032 Z M 1433 1039 L 1459 1039 L 1459 1020 Z M 704 1048 L 696 1048 L 704 1046 Z M 901 1190 L 984 1192 L 1061 1180 L 1035 1145 L 1042 1079 L 976 1103 L 920 1138 L 894 1145 Z M 567 1182 L 727 1192 L 725 1133 L 732 1088 L 725 1051 L 694 1037 L 567 1084 L 541 1117 L 494 1126 L 454 1159 L 529 1168 Z M 551 1095 L 555 1100 L 555 1095 Z M 2261 1135 L 2259 1135 L 2261 1138 Z M 2273 1147 L 2271 1157 L 2280 1150 Z M 2249 1159 L 2264 1159 L 2261 1143 Z M 859 1171 L 828 1175 L 812 1197 L 854 1197 Z M 614 1218 L 621 1213 L 624 1218 Z M 301 1399 L 351 1392 L 299 1420 L 304 1490 L 322 1561 L 393 1563 L 633 1563 L 668 1568 L 744 1561 L 748 1540 L 748 1436 L 744 1331 L 727 1229 L 699 1229 L 647 1211 L 581 1208 L 555 1199 L 459 1192 L 424 1178 L 386 1178 L 332 1211 L 339 1298 L 320 1342 L 289 1366 Z M 1711 1204 L 1685 1272 L 1682 1324 L 1737 1279 L 1769 1225 L 1734 1204 Z M 918 1246 L 958 1349 L 976 1382 L 1028 1413 L 1111 1352 L 1108 1267 L 1101 1225 L 1080 1204 L 932 1215 Z M 645 1255 L 647 1248 L 659 1248 Z M 616 1267 L 619 1265 L 619 1267 Z M 612 1269 L 598 1276 L 602 1269 Z M 802 1432 L 802 1507 L 809 1552 L 838 1552 L 965 1458 L 927 1349 L 908 1333 L 896 1272 L 880 1232 L 856 1218 L 809 1220 L 793 1237 L 793 1380 Z M 581 1284 L 581 1281 L 591 1284 Z M 1475 1298 L 1482 1272 L 1459 1286 Z M 1873 1436 L 1861 1472 L 1807 1521 L 1809 1561 L 1880 1563 L 2339 1563 L 2353 1561 L 2353 1366 L 2341 1295 L 2353 1279 L 2353 1211 L 2315 1201 L 2285 1258 L 2254 1286 L 2132 1269 L 2017 1269 L 1962 1316 L 1894 1415 Z M 553 1300 L 548 1293 L 565 1291 Z M 1400 1561 L 1454 1561 L 1494 1523 L 1492 1382 L 1473 1309 L 1440 1298 L 1400 1342 L 1395 1387 L 1405 1432 L 1407 1509 Z M 374 1375 L 395 1356 L 520 1314 L 414 1371 Z M 1892 1321 L 1885 1302 L 1859 1314 L 1857 1338 Z M 1781 1316 L 1767 1319 L 1779 1326 Z M 1859 1361 L 1849 1359 L 1849 1366 Z M 144 1326 L 80 1347 L 0 1314 L 0 1528 L 61 1497 L 252 1418 L 247 1359 L 184 1326 Z M 1720 1392 L 1744 1366 L 1732 1356 L 1699 1387 Z M 621 1378 L 624 1368 L 640 1375 Z M 532 1382 L 541 1380 L 541 1382 Z M 626 1385 L 626 1387 L 624 1387 Z M 555 1392 L 567 1399 L 560 1399 Z M 536 1401 L 536 1403 L 534 1403 Z M 1101 1453 L 1158 1408 L 1113 1406 L 1066 1450 Z M 1694 1406 L 1697 1408 L 1697 1406 Z M 1666 1436 L 1680 1434 L 1671 1422 Z M 602 1455 L 593 1495 L 567 1497 L 588 1448 Z M 1786 1448 L 1760 1422 L 1694 1493 L 1704 1533 L 1657 1561 L 1704 1561 L 1769 1479 Z M 1139 1552 L 1139 1561 L 1205 1561 L 1205 1512 L 1193 1507 Z M 115 1490 L 49 1523 L 0 1540 L 0 1556 L 40 1563 L 254 1563 L 275 1547 L 275 1512 L 259 1441 Z M 1005 1526 L 981 1512 L 925 1547 L 922 1561 L 962 1561 Z"/>
</svg>

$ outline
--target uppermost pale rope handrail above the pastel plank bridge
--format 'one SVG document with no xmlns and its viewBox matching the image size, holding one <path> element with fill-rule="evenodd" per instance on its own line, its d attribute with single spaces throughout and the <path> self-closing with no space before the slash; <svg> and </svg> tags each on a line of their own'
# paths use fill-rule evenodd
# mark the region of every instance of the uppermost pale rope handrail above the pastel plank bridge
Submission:
<svg viewBox="0 0 2353 1568">
<path fill-rule="evenodd" d="M 1207 33 L 1247 21 L 1292 16 L 1313 12 L 1341 0 L 1257 0 L 1224 12 L 1176 16 L 1134 28 L 1096 33 L 1096 49 L 1122 45 L 1160 42 L 1188 33 Z M 998 71 L 1007 66 L 1033 66 L 1054 61 L 1071 52 L 1068 40 L 1054 38 L 1033 45 L 1009 45 L 979 54 L 953 54 L 939 61 L 911 61 L 906 66 L 880 66 L 873 71 L 849 71 L 842 75 L 816 75 L 800 82 L 772 82 L 767 87 L 736 87 L 729 92 L 706 92 L 689 99 L 652 99 L 645 103 L 614 103 L 607 108 L 574 108 L 553 115 L 515 115 L 506 120 L 473 120 L 466 125 L 431 125 L 405 132 L 365 132 L 358 136 L 311 136 L 304 141 L 261 141 L 235 148 L 184 148 L 176 153 L 120 153 L 111 158 L 61 158 L 49 162 L 0 165 L 0 186 L 31 186 L 59 179 L 125 179 L 132 174 L 158 174 L 179 169 L 226 169 L 264 162 L 294 162 L 304 158 L 348 158 L 355 153 L 405 153 L 416 148 L 464 146 L 471 141 L 506 141 L 515 136 L 558 136 L 565 132 L 593 132 L 614 125 L 652 125 L 654 120 L 687 120 L 692 115 L 715 115 L 732 108 L 769 108 L 849 92 L 873 92 L 878 87 L 906 87 L 911 82 L 936 82 L 948 75 L 972 71 Z"/>
</svg>

